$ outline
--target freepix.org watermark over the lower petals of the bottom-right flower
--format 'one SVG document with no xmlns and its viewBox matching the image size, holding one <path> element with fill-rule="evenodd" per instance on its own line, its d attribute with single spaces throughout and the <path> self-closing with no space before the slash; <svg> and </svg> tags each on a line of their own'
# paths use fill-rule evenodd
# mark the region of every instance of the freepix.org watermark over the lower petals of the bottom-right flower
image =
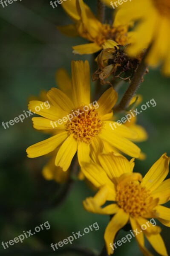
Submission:
<svg viewBox="0 0 170 256">
<path fill-rule="evenodd" d="M 136 230 L 130 230 L 130 234 L 127 234 L 125 237 L 122 237 L 121 240 L 118 240 L 117 242 L 115 242 L 114 244 L 110 243 L 109 246 L 112 248 L 112 250 L 117 249 L 117 246 L 121 246 L 122 243 L 126 243 L 127 241 L 130 243 L 132 237 L 137 236 L 138 234 L 142 233 L 143 230 L 146 230 L 147 227 L 150 227 L 150 224 L 155 227 L 156 226 L 156 221 L 154 220 L 154 218 L 152 218 L 150 221 L 147 221 L 146 224 L 141 225 L 141 230 L 138 230 L 138 228 L 136 228 Z M 116 246 L 117 245 L 117 246 Z"/>
</svg>

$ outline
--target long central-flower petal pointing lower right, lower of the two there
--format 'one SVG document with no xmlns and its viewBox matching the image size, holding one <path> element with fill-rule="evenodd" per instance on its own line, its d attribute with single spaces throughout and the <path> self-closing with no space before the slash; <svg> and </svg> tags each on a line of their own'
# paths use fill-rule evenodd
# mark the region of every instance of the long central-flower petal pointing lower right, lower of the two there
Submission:
<svg viewBox="0 0 170 256">
<path fill-rule="evenodd" d="M 139 157 L 140 148 L 138 148 L 130 140 L 117 136 L 111 129 L 110 131 L 107 130 L 107 132 L 103 129 L 101 134 L 99 134 L 99 137 L 123 153 L 131 157 Z"/>
</svg>

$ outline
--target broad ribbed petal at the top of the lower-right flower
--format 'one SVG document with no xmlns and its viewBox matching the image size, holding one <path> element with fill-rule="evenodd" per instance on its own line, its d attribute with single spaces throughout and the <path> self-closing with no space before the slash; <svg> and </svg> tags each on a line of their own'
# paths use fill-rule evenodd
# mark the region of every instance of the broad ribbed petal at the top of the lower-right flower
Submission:
<svg viewBox="0 0 170 256">
<path fill-rule="evenodd" d="M 118 183 L 118 177 L 124 173 L 131 173 L 130 163 L 123 156 L 116 156 L 113 153 L 101 154 L 98 156 L 98 159 L 109 179 L 112 180 L 115 185 Z"/>
</svg>

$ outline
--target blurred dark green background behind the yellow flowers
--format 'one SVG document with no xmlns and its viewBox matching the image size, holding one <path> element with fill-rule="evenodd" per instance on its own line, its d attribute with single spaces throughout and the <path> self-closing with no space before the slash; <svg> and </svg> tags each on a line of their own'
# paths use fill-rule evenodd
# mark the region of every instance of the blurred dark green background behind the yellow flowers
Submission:
<svg viewBox="0 0 170 256">
<path fill-rule="evenodd" d="M 3 8 L 0 6 L 0 120 L 7 122 L 27 111 L 30 96 L 38 96 L 40 90 L 55 87 L 55 72 L 64 67 L 70 73 L 71 60 L 89 60 L 90 55 L 73 55 L 72 46 L 86 42 L 81 38 L 67 38 L 57 31 L 56 25 L 71 23 L 61 6 L 52 9 L 50 1 L 23 0 Z M 96 1 L 85 1 L 95 12 Z M 107 10 L 110 15 L 111 10 Z M 91 65 L 92 66 L 92 65 Z M 63 84 L 64 86 L 64 84 Z M 94 83 L 92 83 L 94 87 Z M 124 84 L 121 93 L 127 88 Z M 159 70 L 150 70 L 145 76 L 138 93 L 143 95 L 143 103 L 155 99 L 156 107 L 147 108 L 138 116 L 149 140 L 140 143 L 147 154 L 144 161 L 135 160 L 135 172 L 143 175 L 164 152 L 170 155 L 170 79 L 161 76 Z M 28 159 L 26 148 L 47 138 L 32 128 L 31 117 L 23 123 L 15 123 L 6 130 L 0 126 L 0 244 L 23 233 L 34 230 L 36 226 L 49 221 L 51 228 L 42 230 L 23 243 L 17 243 L 0 255 L 61 255 L 53 252 L 51 243 L 58 243 L 72 232 L 81 232 L 97 221 L 100 229 L 89 232 L 74 241 L 75 245 L 100 251 L 104 245 L 104 230 L 109 217 L 84 211 L 82 200 L 94 195 L 84 182 L 76 182 L 69 196 L 60 207 L 47 207 L 48 201 L 57 193 L 59 186 L 54 181 L 46 181 L 41 169 L 47 159 L 44 157 Z M 170 177 L 170 175 L 169 175 Z M 36 206 L 41 202 L 44 210 L 37 213 Z M 168 206 L 168 204 L 167 204 Z M 170 204 L 169 204 L 170 206 Z M 157 221 L 158 224 L 158 221 Z M 118 239 L 125 236 L 121 231 Z M 161 233 L 170 255 L 170 229 L 162 228 Z M 68 245 L 64 246 L 65 248 Z M 156 254 L 147 244 L 154 255 Z M 45 251 L 49 253 L 45 254 Z M 21 252 L 20 252 L 21 251 Z M 30 251 L 30 252 L 29 252 Z M 66 252 L 64 256 L 77 255 Z M 81 254 L 79 254 L 81 255 Z M 115 250 L 115 255 L 141 256 L 133 239 Z"/>
</svg>

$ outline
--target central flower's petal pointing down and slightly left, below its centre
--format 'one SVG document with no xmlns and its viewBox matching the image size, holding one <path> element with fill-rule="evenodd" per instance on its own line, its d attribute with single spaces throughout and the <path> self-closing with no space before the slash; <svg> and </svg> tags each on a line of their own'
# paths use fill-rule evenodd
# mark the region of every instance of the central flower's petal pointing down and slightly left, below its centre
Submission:
<svg viewBox="0 0 170 256">
<path fill-rule="evenodd" d="M 74 157 L 78 148 L 78 141 L 74 139 L 73 135 L 70 135 L 61 148 L 58 151 L 55 159 L 55 165 L 60 166 L 64 172 L 69 168 L 72 158 Z"/>
</svg>

